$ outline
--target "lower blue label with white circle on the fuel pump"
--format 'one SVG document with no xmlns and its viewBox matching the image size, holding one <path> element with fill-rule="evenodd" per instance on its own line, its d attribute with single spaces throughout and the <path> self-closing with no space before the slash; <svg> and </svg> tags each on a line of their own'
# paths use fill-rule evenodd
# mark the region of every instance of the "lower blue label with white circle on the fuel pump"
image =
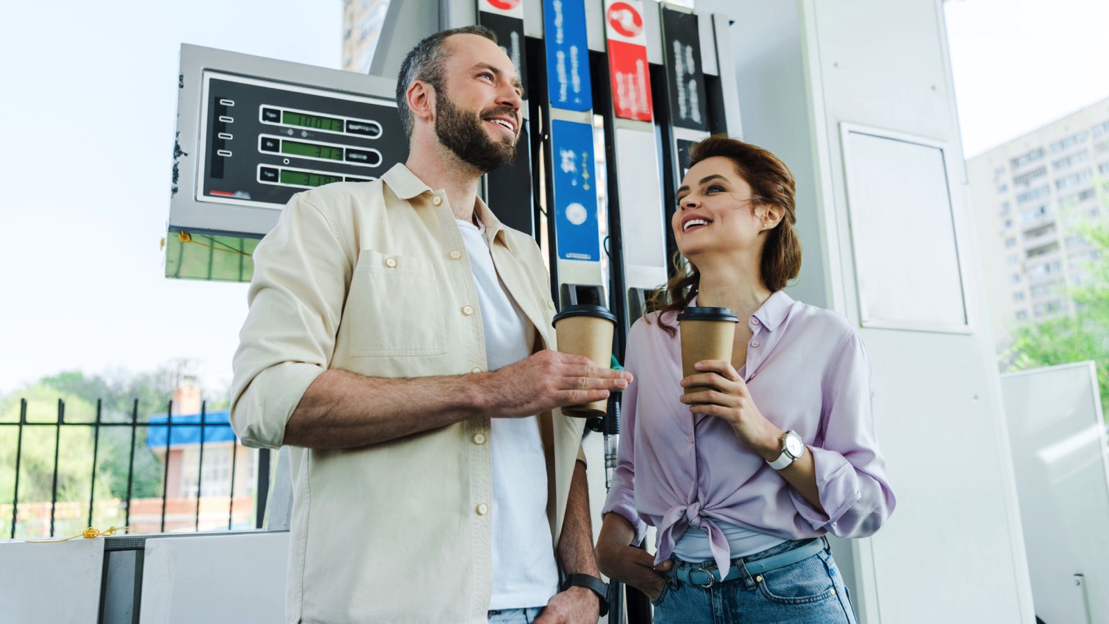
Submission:
<svg viewBox="0 0 1109 624">
<path fill-rule="evenodd" d="M 593 127 L 552 120 L 551 153 L 558 256 L 562 260 L 600 262 L 601 229 L 597 221 Z"/>
</svg>

